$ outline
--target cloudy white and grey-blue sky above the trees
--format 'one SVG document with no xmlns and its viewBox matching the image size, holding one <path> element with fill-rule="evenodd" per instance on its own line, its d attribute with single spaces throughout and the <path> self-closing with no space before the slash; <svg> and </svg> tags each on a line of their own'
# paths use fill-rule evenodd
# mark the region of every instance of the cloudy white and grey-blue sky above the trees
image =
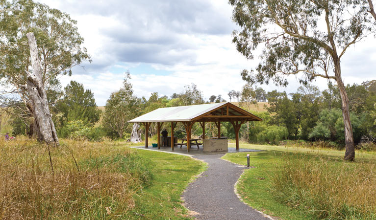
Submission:
<svg viewBox="0 0 376 220">
<path fill-rule="evenodd" d="M 98 106 L 122 86 L 129 69 L 138 97 L 151 92 L 161 96 L 179 93 L 194 83 L 208 100 L 245 84 L 240 71 L 258 64 L 246 60 L 232 44 L 232 22 L 227 0 L 40 0 L 67 12 L 77 21 L 93 62 L 73 69 L 60 78 L 65 87 L 71 80 L 91 89 Z M 369 37 L 347 50 L 342 58 L 345 84 L 376 79 L 376 40 Z M 299 83 L 289 78 L 287 88 L 261 86 L 295 92 Z M 321 89 L 327 81 L 313 83 Z"/>
</svg>

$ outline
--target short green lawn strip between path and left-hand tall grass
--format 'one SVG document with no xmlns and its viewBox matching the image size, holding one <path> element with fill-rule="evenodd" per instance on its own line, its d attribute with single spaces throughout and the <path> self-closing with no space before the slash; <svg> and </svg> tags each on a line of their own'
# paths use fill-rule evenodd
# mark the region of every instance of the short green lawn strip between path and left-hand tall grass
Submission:
<svg viewBox="0 0 376 220">
<path fill-rule="evenodd" d="M 189 156 L 135 150 L 153 164 L 153 180 L 135 197 L 131 219 L 192 219 L 181 205 L 180 196 L 194 176 L 206 168 L 204 162 Z"/>
</svg>

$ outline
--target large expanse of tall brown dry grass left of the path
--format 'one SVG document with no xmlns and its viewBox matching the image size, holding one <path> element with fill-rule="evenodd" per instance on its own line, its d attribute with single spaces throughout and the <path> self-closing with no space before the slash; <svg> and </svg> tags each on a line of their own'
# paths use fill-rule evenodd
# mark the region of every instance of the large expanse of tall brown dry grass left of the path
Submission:
<svg viewBox="0 0 376 220">
<path fill-rule="evenodd" d="M 108 141 L 60 143 L 0 140 L 0 219 L 126 219 L 150 164 Z"/>
</svg>

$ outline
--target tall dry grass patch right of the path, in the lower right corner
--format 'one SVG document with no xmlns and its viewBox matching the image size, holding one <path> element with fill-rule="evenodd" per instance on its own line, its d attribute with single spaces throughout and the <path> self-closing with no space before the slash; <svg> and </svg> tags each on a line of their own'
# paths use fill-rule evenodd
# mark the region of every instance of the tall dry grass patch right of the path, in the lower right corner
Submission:
<svg viewBox="0 0 376 220">
<path fill-rule="evenodd" d="M 286 154 L 272 177 L 275 197 L 318 219 L 376 219 L 376 164 Z"/>
</svg>

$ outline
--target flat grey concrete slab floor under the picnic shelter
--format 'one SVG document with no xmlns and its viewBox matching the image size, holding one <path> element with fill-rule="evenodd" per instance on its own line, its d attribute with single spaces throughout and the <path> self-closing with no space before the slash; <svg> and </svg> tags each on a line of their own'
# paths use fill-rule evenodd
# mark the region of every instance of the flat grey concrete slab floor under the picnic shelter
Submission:
<svg viewBox="0 0 376 220">
<path fill-rule="evenodd" d="M 145 148 L 145 146 L 138 146 L 138 147 L 132 147 L 132 148 L 146 149 L 146 150 L 166 152 L 166 153 L 185 154 L 185 155 L 192 155 L 192 156 L 239 153 L 239 152 L 261 152 L 261 150 L 253 150 L 253 149 L 246 149 L 246 148 L 240 148 L 238 151 L 235 148 L 228 148 L 228 151 L 204 152 L 202 147 L 200 147 L 200 149 L 197 149 L 196 146 L 192 146 L 190 151 L 187 152 L 187 146 L 185 145 L 183 145 L 182 148 L 180 148 L 180 146 L 174 147 L 174 151 L 171 149 L 171 147 L 161 147 L 160 149 L 158 149 L 158 148 L 153 148 L 152 146 L 149 146 L 148 148 Z"/>
</svg>

